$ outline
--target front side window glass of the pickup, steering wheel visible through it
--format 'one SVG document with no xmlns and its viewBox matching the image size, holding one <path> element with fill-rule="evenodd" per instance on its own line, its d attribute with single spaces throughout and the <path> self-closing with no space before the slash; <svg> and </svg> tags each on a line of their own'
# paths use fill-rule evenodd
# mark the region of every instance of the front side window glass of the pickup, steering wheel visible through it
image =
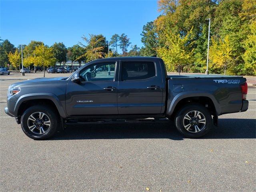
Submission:
<svg viewBox="0 0 256 192">
<path fill-rule="evenodd" d="M 82 81 L 114 81 L 116 62 L 92 64 L 80 72 Z"/>
</svg>

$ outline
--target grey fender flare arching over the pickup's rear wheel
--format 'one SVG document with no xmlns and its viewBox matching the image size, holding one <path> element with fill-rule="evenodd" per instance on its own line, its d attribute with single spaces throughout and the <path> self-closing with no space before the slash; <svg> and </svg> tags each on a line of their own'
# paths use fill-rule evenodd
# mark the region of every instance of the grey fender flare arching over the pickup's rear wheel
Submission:
<svg viewBox="0 0 256 192">
<path fill-rule="evenodd" d="M 188 92 L 181 92 L 177 94 L 172 100 L 168 98 L 168 108 L 167 108 L 167 115 L 172 115 L 176 105 L 180 102 L 180 100 L 189 97 L 208 97 L 212 100 L 214 107 L 216 109 L 217 114 L 221 113 L 221 108 L 219 102 L 216 98 L 211 94 L 204 91 L 188 91 Z"/>
</svg>

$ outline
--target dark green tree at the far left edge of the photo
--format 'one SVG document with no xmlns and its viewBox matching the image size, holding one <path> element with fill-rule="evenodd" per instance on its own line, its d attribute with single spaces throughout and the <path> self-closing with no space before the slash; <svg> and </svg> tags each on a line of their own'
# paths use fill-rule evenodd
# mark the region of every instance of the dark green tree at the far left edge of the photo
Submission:
<svg viewBox="0 0 256 192">
<path fill-rule="evenodd" d="M 7 64 L 10 63 L 7 56 L 9 52 L 15 52 L 14 45 L 7 39 L 0 42 L 0 66 L 7 66 Z"/>
</svg>

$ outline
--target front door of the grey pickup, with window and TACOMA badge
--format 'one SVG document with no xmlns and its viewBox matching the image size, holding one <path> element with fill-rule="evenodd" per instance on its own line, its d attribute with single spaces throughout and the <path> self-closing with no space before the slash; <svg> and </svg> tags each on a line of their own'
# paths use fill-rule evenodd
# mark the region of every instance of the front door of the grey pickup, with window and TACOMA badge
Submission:
<svg viewBox="0 0 256 192">
<path fill-rule="evenodd" d="M 82 69 L 81 83 L 69 80 L 66 90 L 68 116 L 116 115 L 116 62 L 94 63 Z"/>
</svg>

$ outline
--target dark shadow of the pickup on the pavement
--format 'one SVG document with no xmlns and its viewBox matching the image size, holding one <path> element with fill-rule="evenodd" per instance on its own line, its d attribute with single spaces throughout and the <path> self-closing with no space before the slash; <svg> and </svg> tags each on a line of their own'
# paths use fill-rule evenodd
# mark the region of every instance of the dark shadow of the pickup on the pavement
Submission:
<svg viewBox="0 0 256 192">
<path fill-rule="evenodd" d="M 182 136 L 170 124 L 101 124 L 68 126 L 50 140 L 86 140 L 86 139 L 145 139 L 166 138 L 183 140 Z M 219 119 L 218 127 L 199 139 L 239 139 L 256 138 L 255 119 Z"/>
</svg>

